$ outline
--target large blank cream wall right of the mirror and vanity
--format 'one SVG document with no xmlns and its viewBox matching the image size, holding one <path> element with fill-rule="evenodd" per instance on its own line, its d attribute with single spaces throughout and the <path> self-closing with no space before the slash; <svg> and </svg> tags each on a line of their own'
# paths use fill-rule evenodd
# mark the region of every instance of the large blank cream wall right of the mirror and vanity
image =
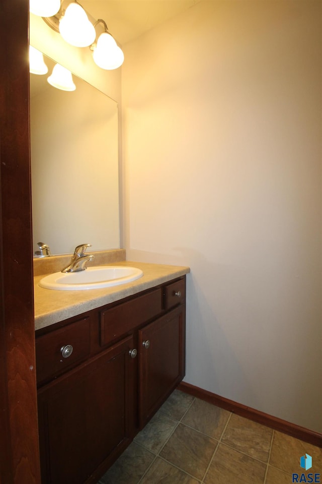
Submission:
<svg viewBox="0 0 322 484">
<path fill-rule="evenodd" d="M 124 46 L 128 260 L 189 265 L 186 381 L 321 422 L 321 4 L 201 2 Z"/>
</svg>

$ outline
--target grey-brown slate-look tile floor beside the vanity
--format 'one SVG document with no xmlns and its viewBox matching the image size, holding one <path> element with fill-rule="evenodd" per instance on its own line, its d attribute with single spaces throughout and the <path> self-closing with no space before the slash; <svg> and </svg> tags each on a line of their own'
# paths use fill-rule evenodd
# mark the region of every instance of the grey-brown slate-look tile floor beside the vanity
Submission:
<svg viewBox="0 0 322 484">
<path fill-rule="evenodd" d="M 175 390 L 98 484 L 290 484 L 322 449 Z"/>
</svg>

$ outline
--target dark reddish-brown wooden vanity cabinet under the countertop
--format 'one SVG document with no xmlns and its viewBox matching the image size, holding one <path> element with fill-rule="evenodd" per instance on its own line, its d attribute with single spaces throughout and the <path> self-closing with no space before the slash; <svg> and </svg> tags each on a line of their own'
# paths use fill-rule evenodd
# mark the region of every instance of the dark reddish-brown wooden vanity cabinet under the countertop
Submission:
<svg viewBox="0 0 322 484">
<path fill-rule="evenodd" d="M 183 379 L 185 283 L 36 332 L 43 484 L 97 482 Z"/>
</svg>

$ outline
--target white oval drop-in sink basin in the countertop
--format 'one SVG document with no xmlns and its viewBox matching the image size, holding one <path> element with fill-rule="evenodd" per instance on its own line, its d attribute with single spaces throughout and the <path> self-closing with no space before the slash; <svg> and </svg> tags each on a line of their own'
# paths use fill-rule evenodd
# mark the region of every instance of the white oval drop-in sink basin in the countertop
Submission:
<svg viewBox="0 0 322 484">
<path fill-rule="evenodd" d="M 136 267 L 97 266 L 88 267 L 79 272 L 55 272 L 40 280 L 40 287 L 58 291 L 77 291 L 82 289 L 100 289 L 135 281 L 143 276 Z"/>
</svg>

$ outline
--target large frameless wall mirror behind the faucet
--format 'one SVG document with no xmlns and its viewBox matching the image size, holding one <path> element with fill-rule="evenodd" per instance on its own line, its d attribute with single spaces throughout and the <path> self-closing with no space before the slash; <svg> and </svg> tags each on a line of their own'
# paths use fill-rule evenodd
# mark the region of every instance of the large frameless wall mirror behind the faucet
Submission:
<svg viewBox="0 0 322 484">
<path fill-rule="evenodd" d="M 76 90 L 30 74 L 30 138 L 34 251 L 52 254 L 117 249 L 119 235 L 117 103 L 73 75 Z"/>
</svg>

